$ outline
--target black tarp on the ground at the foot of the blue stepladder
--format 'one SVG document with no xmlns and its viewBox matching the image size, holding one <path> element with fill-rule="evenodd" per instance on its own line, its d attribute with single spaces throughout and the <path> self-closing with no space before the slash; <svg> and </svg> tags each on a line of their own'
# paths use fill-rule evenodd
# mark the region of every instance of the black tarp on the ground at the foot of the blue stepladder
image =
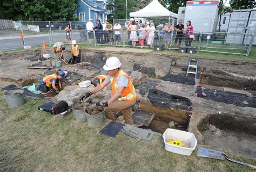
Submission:
<svg viewBox="0 0 256 172">
<path fill-rule="evenodd" d="M 163 77 L 163 80 L 170 81 L 170 82 L 177 82 L 177 83 L 181 83 L 181 84 L 187 84 L 187 85 L 196 84 L 194 77 L 187 77 L 187 76 L 183 76 L 183 75 L 166 74 Z"/>
</svg>

